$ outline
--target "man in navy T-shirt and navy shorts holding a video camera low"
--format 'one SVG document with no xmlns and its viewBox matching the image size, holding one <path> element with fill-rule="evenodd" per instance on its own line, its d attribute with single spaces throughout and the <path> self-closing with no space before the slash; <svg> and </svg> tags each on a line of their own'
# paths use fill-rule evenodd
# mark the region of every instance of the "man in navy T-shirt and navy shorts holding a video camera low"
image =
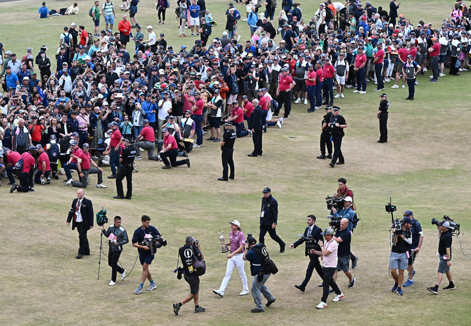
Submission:
<svg viewBox="0 0 471 326">
<path fill-rule="evenodd" d="M 144 286 L 146 278 L 151 282 L 149 287 L 146 289 L 147 291 L 152 291 L 157 287 L 156 283 L 152 279 L 151 272 L 149 271 L 149 265 L 154 260 L 154 254 L 156 253 L 157 248 L 153 248 L 151 252 L 150 248 L 147 245 L 142 245 L 142 243 L 144 243 L 146 234 L 149 234 L 151 236 L 159 236 L 160 233 L 158 232 L 157 228 L 150 225 L 151 218 L 149 216 L 142 215 L 141 223 L 142 225 L 136 228 L 134 234 L 132 235 L 132 247 L 137 248 L 137 251 L 139 252 L 139 260 L 142 265 L 141 283 L 134 290 L 136 294 L 142 292 L 142 287 Z"/>
</svg>

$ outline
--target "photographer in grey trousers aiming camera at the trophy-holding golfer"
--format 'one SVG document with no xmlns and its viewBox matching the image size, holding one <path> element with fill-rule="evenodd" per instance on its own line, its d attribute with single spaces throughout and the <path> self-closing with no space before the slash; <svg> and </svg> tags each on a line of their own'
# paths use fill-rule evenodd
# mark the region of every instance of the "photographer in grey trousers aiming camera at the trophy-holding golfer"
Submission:
<svg viewBox="0 0 471 326">
<path fill-rule="evenodd" d="M 247 244 L 248 248 L 245 249 L 243 258 L 244 260 L 248 260 L 250 262 L 250 273 L 252 276 L 254 276 L 254 279 L 252 280 L 252 297 L 255 301 L 255 309 L 250 311 L 254 313 L 264 312 L 262 294 L 263 297 L 265 297 L 267 300 L 265 304 L 267 307 L 269 307 L 276 300 L 265 285 L 265 282 L 270 276 L 270 272 L 263 268 L 260 256 L 256 252 L 261 252 L 262 250 L 266 251 L 266 247 L 263 243 L 257 244 L 257 240 L 255 240 L 251 234 L 248 234 Z"/>
</svg>

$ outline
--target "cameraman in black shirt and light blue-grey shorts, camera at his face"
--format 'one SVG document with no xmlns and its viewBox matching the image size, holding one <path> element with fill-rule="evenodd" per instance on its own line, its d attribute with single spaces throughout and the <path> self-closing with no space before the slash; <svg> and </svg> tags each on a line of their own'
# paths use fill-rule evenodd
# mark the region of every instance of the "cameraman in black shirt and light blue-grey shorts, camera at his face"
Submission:
<svg viewBox="0 0 471 326">
<path fill-rule="evenodd" d="M 391 291 L 396 292 L 400 296 L 403 296 L 399 282 L 402 283 L 404 279 L 404 271 L 407 269 L 407 251 L 412 243 L 412 220 L 409 217 L 404 217 L 401 221 L 402 226 L 400 229 L 394 230 L 394 237 L 392 238 L 391 255 L 389 257 L 389 268 L 391 270 L 391 276 L 394 278 L 394 286 Z M 399 272 L 396 272 L 396 269 Z"/>
</svg>

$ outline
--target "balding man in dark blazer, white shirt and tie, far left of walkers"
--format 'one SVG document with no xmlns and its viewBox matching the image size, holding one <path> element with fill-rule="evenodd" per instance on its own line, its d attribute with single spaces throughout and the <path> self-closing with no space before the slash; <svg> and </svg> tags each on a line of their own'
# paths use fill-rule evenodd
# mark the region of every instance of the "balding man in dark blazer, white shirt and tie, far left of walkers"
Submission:
<svg viewBox="0 0 471 326">
<path fill-rule="evenodd" d="M 90 247 L 88 246 L 87 232 L 93 227 L 93 205 L 92 201 L 84 197 L 83 189 L 77 190 L 77 198 L 72 201 L 72 207 L 67 217 L 67 225 L 72 221 L 72 230 L 77 227 L 78 231 L 78 254 L 77 259 L 84 255 L 90 255 Z"/>
</svg>

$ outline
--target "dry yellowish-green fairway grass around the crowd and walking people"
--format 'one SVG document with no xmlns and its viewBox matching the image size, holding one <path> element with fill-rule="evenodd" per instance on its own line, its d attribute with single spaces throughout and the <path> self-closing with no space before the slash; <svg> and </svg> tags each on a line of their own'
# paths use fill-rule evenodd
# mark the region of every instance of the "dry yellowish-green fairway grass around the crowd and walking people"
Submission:
<svg viewBox="0 0 471 326">
<path fill-rule="evenodd" d="M 54 16 L 36 20 L 41 1 L 15 1 L 0 3 L 0 42 L 5 50 L 16 52 L 19 59 L 31 46 L 33 55 L 41 45 L 46 45 L 52 68 L 55 69 L 54 52 L 64 26 L 71 22 L 91 29 L 88 9 L 91 0 L 78 1 L 77 17 Z M 115 1 L 115 7 L 120 1 Z M 229 1 L 230 2 L 230 1 Z M 227 0 L 207 0 L 207 7 L 218 22 L 211 37 L 220 36 L 225 26 Z M 389 7 L 386 0 L 372 1 L 377 7 Z M 403 13 L 414 25 L 420 19 L 425 23 L 440 25 L 449 15 L 453 2 L 443 0 L 403 1 Z M 66 7 L 73 1 L 50 1 L 50 9 Z M 101 1 L 103 3 L 103 0 Z M 196 37 L 178 37 L 178 24 L 171 1 L 165 25 L 157 25 L 154 1 L 142 0 L 138 6 L 137 21 L 141 26 L 153 25 L 156 34 L 165 33 L 174 49 L 184 43 L 188 48 Z M 281 0 L 278 0 L 278 9 Z M 315 1 L 303 2 L 303 17 L 314 16 L 318 7 Z M 243 7 L 237 8 L 244 15 Z M 119 9 L 119 8 L 118 8 Z M 278 15 L 279 10 L 276 11 Z M 118 21 L 122 11 L 117 11 Z M 129 16 L 128 16 L 129 17 Z M 104 19 L 101 21 L 104 25 Z M 103 28 L 102 28 L 103 27 Z M 104 29 L 101 26 L 100 29 Z M 115 24 L 117 30 L 117 22 Z M 248 38 L 245 22 L 239 22 L 240 42 Z M 144 32 L 145 37 L 148 33 Z M 275 38 L 278 43 L 280 37 Z M 128 51 L 132 52 L 131 45 Z M 132 53 L 131 53 L 132 55 Z M 253 149 L 250 137 L 235 141 L 235 180 L 220 182 L 222 176 L 219 143 L 204 141 L 202 148 L 189 153 L 191 167 L 162 170 L 161 162 L 136 161 L 139 168 L 134 173 L 131 201 L 117 201 L 114 180 L 109 180 L 109 167 L 104 170 L 106 189 L 95 188 L 96 176 L 90 176 L 90 187 L 85 197 L 93 201 L 95 213 L 102 203 L 108 211 L 110 222 L 115 215 L 122 217 L 130 242 L 134 229 L 140 226 L 141 215 L 151 217 L 151 225 L 163 233 L 168 246 L 158 249 L 150 271 L 157 289 L 135 295 L 142 268 L 137 261 L 129 277 L 118 277 L 115 286 L 108 286 L 111 269 L 102 254 L 100 280 L 98 260 L 100 248 L 99 227 L 88 232 L 91 255 L 75 259 L 78 233 L 66 225 L 66 218 L 78 188 L 64 187 L 62 179 L 51 185 L 34 187 L 34 193 L 8 192 L 7 179 L 0 187 L 0 325 L 5 326 L 101 326 L 101 325 L 307 325 L 315 322 L 332 325 L 471 325 L 470 260 L 461 253 L 457 238 L 453 238 L 451 272 L 456 284 L 454 291 L 442 291 L 448 284 L 444 277 L 438 296 L 426 290 L 437 277 L 439 259 L 436 257 L 438 237 L 432 218 L 449 215 L 461 224 L 460 239 L 463 250 L 471 254 L 468 203 L 471 198 L 470 145 L 471 135 L 470 72 L 461 76 L 440 77 L 430 83 L 426 76 L 418 78 L 414 101 L 407 101 L 405 89 L 391 89 L 385 84 L 390 105 L 389 137 L 387 144 L 378 144 L 378 119 L 376 112 L 379 93 L 368 82 L 365 95 L 353 94 L 345 89 L 345 99 L 336 99 L 348 128 L 342 151 L 345 164 L 329 167 L 319 155 L 320 122 L 323 110 L 307 113 L 307 105 L 294 104 L 289 119 L 282 129 L 268 128 L 263 134 L 263 156 L 247 157 Z M 205 139 L 209 135 L 204 135 Z M 76 174 L 73 174 L 77 178 Z M 338 285 L 345 298 L 317 310 L 322 289 L 320 278 L 313 274 L 305 293 L 294 288 L 304 278 L 309 258 L 304 255 L 304 245 L 288 249 L 297 234 L 306 226 L 306 216 L 314 214 L 316 225 L 328 225 L 329 211 L 325 197 L 337 190 L 337 179 L 344 177 L 347 186 L 355 193 L 355 203 L 362 222 L 354 233 L 352 252 L 359 256 L 358 267 L 352 271 L 357 283 L 347 289 L 348 279 L 341 273 Z M 229 282 L 224 298 L 212 293 L 217 289 L 226 269 L 226 255 L 221 253 L 217 231 L 224 230 L 226 241 L 229 221 L 237 219 L 241 229 L 258 240 L 262 189 L 269 186 L 279 204 L 277 233 L 286 242 L 287 250 L 279 253 L 278 245 L 265 236 L 265 243 L 279 268 L 266 285 L 277 299 L 265 308 L 263 314 L 252 314 L 254 302 L 250 295 L 239 297 L 241 280 L 236 270 Z M 391 293 L 393 280 L 389 276 L 391 215 L 385 212 L 392 191 L 392 204 L 397 206 L 394 217 L 402 218 L 406 209 L 414 212 L 424 229 L 424 241 L 415 263 L 415 285 L 403 288 L 404 296 Z M 106 226 L 107 227 L 107 226 Z M 189 286 L 173 273 L 178 249 L 185 237 L 192 235 L 201 241 L 207 272 L 201 276 L 200 305 L 207 311 L 193 314 L 193 304 L 183 305 L 178 316 L 172 303 L 181 301 Z M 103 248 L 108 253 L 104 237 Z M 137 251 L 131 243 L 124 246 L 120 262 L 129 272 Z M 181 264 L 181 263 L 180 263 Z M 181 266 L 181 265 L 180 265 Z M 249 264 L 245 271 L 252 282 Z M 407 272 L 406 272 L 407 274 Z M 118 275 L 119 276 L 119 275 Z M 148 281 L 145 287 L 148 286 Z M 265 301 L 263 300 L 263 303 Z"/>
</svg>

